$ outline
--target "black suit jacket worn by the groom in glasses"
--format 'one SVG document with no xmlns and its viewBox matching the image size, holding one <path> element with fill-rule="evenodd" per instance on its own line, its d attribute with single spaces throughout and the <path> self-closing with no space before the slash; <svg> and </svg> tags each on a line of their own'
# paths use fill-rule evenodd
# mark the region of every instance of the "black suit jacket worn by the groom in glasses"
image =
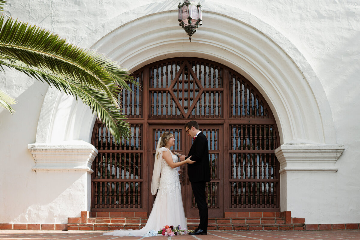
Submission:
<svg viewBox="0 0 360 240">
<path fill-rule="evenodd" d="M 190 182 L 210 182 L 209 148 L 206 136 L 202 132 L 195 138 L 188 154 L 188 157 L 190 156 L 195 162 L 188 164 Z"/>
</svg>

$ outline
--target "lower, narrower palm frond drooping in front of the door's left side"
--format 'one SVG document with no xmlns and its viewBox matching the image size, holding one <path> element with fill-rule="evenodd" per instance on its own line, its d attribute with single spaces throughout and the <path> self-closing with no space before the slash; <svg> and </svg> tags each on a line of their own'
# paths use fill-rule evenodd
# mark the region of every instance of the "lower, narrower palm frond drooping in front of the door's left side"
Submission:
<svg viewBox="0 0 360 240">
<path fill-rule="evenodd" d="M 50 86 L 54 86 L 58 90 L 63 90 L 76 99 L 81 99 L 84 104 L 90 107 L 98 119 L 107 126 L 117 143 L 121 142 L 122 137 L 126 138 L 130 136 L 130 125 L 124 121 L 126 119 L 125 114 L 122 113 L 118 105 L 112 103 L 104 91 L 91 89 L 72 78 L 64 77 L 60 74 L 53 74 L 50 71 L 32 68 L 18 61 L 0 59 L 0 64 L 26 73 L 28 76 L 36 78 L 37 80 L 45 81 L 49 83 Z"/>
</svg>

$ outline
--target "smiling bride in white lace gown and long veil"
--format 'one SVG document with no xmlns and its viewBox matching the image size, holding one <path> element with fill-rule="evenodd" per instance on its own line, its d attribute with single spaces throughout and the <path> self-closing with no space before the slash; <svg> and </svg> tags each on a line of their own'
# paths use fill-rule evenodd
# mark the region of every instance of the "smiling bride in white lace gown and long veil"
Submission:
<svg viewBox="0 0 360 240">
<path fill-rule="evenodd" d="M 191 156 L 182 162 L 171 153 L 171 146 L 175 145 L 175 138 L 170 132 L 164 132 L 158 140 L 155 154 L 154 172 L 151 182 L 151 193 L 157 196 L 154 201 L 149 219 L 145 227 L 140 230 L 115 230 L 104 232 L 103 235 L 113 236 L 153 236 L 149 235 L 151 230 L 156 232 L 165 225 L 180 225 L 187 229 L 186 219 L 181 199 L 181 187 L 176 167 L 185 163 L 192 164 Z M 160 177 L 161 173 L 161 177 Z M 154 231 L 152 231 L 154 234 Z"/>
</svg>

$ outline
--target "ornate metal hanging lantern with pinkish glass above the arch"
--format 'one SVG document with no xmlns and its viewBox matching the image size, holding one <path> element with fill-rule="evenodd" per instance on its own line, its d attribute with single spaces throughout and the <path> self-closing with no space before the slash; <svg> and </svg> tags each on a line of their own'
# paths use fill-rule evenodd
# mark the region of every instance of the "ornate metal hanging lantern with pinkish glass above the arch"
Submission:
<svg viewBox="0 0 360 240">
<path fill-rule="evenodd" d="M 184 0 L 184 3 L 181 4 L 180 2 L 177 7 L 179 8 L 179 25 L 188 33 L 191 42 L 191 37 L 196 32 L 196 28 L 202 25 L 200 2 L 196 5 L 195 0 Z"/>
</svg>

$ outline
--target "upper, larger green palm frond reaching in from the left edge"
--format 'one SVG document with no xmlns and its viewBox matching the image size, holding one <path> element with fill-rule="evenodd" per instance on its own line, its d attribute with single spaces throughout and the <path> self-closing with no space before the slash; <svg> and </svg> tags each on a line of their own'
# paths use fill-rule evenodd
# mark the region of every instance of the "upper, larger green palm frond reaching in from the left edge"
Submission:
<svg viewBox="0 0 360 240">
<path fill-rule="evenodd" d="M 113 104 L 118 87 L 129 89 L 125 81 L 137 82 L 123 66 L 107 56 L 81 49 L 58 35 L 12 18 L 0 17 L 0 56 L 72 78 L 81 84 L 104 91 Z"/>
</svg>

